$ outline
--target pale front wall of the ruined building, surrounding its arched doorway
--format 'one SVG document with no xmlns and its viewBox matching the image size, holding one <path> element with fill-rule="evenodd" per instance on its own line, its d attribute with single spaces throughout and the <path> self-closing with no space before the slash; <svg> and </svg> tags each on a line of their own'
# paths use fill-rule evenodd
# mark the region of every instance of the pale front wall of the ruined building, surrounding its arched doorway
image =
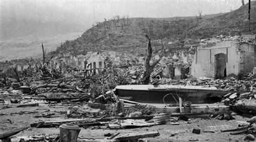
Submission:
<svg viewBox="0 0 256 142">
<path fill-rule="evenodd" d="M 191 66 L 191 75 L 199 77 L 215 78 L 216 57 L 220 53 L 226 55 L 226 75 L 238 76 L 239 73 L 239 53 L 236 52 L 237 43 L 234 41 L 224 41 L 209 46 L 199 46 L 194 61 Z"/>
</svg>

